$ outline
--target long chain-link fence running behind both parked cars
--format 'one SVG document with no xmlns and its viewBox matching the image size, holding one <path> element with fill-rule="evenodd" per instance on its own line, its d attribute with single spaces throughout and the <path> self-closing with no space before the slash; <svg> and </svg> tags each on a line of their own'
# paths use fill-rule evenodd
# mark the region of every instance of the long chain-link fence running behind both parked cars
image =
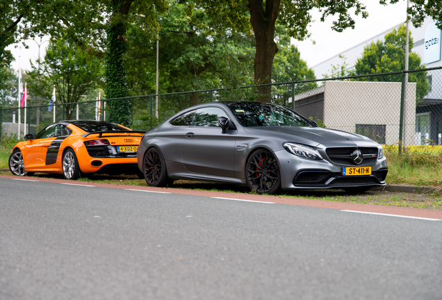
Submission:
<svg viewBox="0 0 442 300">
<path fill-rule="evenodd" d="M 197 103 L 271 101 L 293 108 L 320 126 L 366 135 L 398 151 L 442 153 L 442 67 L 124 99 L 131 103 L 131 127 L 137 130 L 148 130 Z M 18 108 L 18 101 L 10 107 L 3 103 L 1 128 L 3 133 L 19 132 L 23 136 L 38 132 L 54 120 L 107 120 L 106 103 L 115 100 L 121 99 L 26 109 Z"/>
</svg>

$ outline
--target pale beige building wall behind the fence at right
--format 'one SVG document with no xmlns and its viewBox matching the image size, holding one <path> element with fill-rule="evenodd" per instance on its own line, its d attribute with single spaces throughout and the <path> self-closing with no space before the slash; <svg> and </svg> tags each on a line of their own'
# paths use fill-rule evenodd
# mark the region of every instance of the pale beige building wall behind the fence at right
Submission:
<svg viewBox="0 0 442 300">
<path fill-rule="evenodd" d="M 408 83 L 404 103 L 404 144 L 414 144 L 416 83 Z M 326 81 L 324 124 L 355 133 L 356 124 L 385 125 L 386 144 L 399 142 L 401 83 Z"/>
</svg>

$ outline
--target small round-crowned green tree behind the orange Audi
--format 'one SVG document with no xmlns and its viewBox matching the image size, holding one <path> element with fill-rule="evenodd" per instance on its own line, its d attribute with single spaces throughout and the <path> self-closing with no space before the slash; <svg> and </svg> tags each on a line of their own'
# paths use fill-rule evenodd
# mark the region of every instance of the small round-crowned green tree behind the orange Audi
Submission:
<svg viewBox="0 0 442 300">
<path fill-rule="evenodd" d="M 69 103 L 81 101 L 81 97 L 103 85 L 101 60 L 67 40 L 51 40 L 40 69 L 34 65 L 31 67 L 28 90 L 50 99 L 55 85 L 56 102 L 67 104 L 63 106 L 67 119 L 72 119 L 76 108 Z"/>
</svg>

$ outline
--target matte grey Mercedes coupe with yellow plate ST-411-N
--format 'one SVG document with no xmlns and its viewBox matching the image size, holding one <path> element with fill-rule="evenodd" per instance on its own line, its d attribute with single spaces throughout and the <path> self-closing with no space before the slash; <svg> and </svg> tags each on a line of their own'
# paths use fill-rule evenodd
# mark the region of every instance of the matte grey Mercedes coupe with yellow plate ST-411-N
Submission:
<svg viewBox="0 0 442 300">
<path fill-rule="evenodd" d="M 386 185 L 382 146 L 318 125 L 283 106 L 252 101 L 192 106 L 147 131 L 137 151 L 149 185 L 174 180 L 247 184 L 279 190 L 364 192 Z"/>
</svg>

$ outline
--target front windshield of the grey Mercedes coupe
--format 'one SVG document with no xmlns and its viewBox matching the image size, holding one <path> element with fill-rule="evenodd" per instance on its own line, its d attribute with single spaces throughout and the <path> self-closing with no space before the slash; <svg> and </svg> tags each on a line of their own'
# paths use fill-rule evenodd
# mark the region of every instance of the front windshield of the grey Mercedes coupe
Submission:
<svg viewBox="0 0 442 300">
<path fill-rule="evenodd" d="M 226 103 L 238 122 L 246 127 L 252 126 L 302 126 L 313 127 L 306 119 L 297 113 L 267 103 L 234 102 Z"/>
</svg>

